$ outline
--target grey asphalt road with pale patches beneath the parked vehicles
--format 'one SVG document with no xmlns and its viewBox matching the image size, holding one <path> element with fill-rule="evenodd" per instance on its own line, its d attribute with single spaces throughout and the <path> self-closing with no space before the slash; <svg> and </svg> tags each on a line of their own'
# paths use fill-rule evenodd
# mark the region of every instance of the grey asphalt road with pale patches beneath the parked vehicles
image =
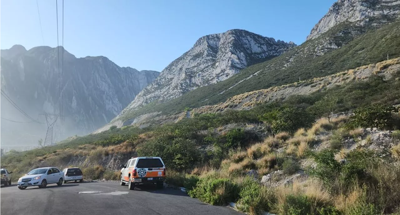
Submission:
<svg viewBox="0 0 400 215">
<path fill-rule="evenodd" d="M 1 215 L 225 215 L 237 214 L 228 207 L 204 204 L 180 190 L 128 186 L 113 182 L 67 183 L 44 189 L 16 185 L 0 188 Z"/>
</svg>

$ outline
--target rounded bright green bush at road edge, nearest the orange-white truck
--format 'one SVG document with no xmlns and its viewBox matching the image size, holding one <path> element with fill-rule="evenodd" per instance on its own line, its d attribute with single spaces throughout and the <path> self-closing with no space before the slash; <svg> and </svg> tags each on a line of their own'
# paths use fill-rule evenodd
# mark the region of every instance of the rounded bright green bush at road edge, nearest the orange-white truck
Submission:
<svg viewBox="0 0 400 215">
<path fill-rule="evenodd" d="M 237 185 L 230 179 L 205 177 L 201 178 L 188 194 L 210 205 L 225 205 L 237 199 Z"/>
</svg>

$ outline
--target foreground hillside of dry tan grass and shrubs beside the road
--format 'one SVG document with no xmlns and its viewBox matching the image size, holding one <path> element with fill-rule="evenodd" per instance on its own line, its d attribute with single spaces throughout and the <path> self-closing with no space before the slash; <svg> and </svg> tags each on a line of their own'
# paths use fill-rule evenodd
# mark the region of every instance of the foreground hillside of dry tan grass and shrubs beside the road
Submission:
<svg viewBox="0 0 400 215">
<path fill-rule="evenodd" d="M 400 131 L 392 130 L 400 128 L 400 115 L 392 105 L 400 101 L 400 70 L 390 78 L 379 74 L 250 110 L 146 129 L 112 127 L 55 146 L 11 151 L 0 167 L 13 171 L 14 180 L 49 165 L 82 167 L 90 179 L 118 179 L 118 166 L 129 157 L 160 156 L 168 183 L 209 204 L 236 201 L 250 214 L 398 213 Z M 315 121 L 349 110 L 354 116 Z M 270 179 L 261 183 L 263 175 Z"/>
</svg>

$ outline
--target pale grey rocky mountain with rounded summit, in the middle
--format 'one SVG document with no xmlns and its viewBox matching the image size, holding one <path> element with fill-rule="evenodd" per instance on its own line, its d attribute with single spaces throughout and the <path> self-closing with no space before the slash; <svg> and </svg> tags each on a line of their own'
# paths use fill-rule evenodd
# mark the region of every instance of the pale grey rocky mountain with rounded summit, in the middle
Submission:
<svg viewBox="0 0 400 215">
<path fill-rule="evenodd" d="M 156 100 L 165 102 L 226 80 L 247 66 L 279 56 L 295 46 L 293 42 L 276 41 L 239 29 L 203 36 L 162 70 L 156 81 L 144 88 L 124 111 Z"/>
</svg>

